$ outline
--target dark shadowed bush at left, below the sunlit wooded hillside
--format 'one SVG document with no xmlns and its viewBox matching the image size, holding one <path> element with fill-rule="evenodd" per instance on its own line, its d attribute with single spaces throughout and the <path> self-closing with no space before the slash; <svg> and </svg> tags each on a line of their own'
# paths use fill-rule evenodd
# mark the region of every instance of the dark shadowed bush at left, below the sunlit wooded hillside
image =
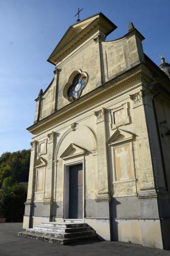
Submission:
<svg viewBox="0 0 170 256">
<path fill-rule="evenodd" d="M 27 187 L 15 183 L 11 187 L 5 187 L 0 191 L 0 216 L 6 221 L 22 221 L 24 214 L 24 202 L 27 198 Z"/>
</svg>

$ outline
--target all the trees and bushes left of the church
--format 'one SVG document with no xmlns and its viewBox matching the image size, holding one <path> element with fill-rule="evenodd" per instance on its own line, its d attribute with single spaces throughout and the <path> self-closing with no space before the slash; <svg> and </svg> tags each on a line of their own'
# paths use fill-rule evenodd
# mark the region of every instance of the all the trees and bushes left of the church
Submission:
<svg viewBox="0 0 170 256">
<path fill-rule="evenodd" d="M 27 199 L 30 150 L 6 152 L 0 157 L 0 218 L 22 221 Z"/>
</svg>

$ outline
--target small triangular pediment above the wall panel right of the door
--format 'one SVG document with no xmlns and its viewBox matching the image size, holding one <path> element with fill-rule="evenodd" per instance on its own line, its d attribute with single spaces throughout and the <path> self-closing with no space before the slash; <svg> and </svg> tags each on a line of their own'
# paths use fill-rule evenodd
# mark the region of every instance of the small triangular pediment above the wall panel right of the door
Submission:
<svg viewBox="0 0 170 256">
<path fill-rule="evenodd" d="M 117 129 L 111 138 L 107 141 L 109 146 L 112 146 L 116 143 L 120 143 L 126 140 L 132 140 L 135 137 L 135 134 L 130 131 L 125 131 L 122 129 Z"/>
</svg>

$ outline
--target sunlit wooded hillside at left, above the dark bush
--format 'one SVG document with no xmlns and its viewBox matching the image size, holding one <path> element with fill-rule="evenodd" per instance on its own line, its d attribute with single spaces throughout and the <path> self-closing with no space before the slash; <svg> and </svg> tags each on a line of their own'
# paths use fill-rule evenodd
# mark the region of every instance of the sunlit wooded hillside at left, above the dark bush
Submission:
<svg viewBox="0 0 170 256">
<path fill-rule="evenodd" d="M 0 157 L 0 187 L 8 183 L 12 185 L 15 182 L 28 182 L 29 165 L 30 149 L 2 154 Z"/>
</svg>

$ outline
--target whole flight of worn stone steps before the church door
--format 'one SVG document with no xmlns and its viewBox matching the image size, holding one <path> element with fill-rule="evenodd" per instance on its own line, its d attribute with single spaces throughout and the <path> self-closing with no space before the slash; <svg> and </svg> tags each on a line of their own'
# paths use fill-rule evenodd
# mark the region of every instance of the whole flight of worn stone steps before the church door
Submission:
<svg viewBox="0 0 170 256">
<path fill-rule="evenodd" d="M 19 232 L 18 236 L 59 244 L 70 244 L 97 238 L 96 231 L 87 223 L 82 222 L 43 222 L 40 226 L 33 226 L 33 228 Z"/>
</svg>

